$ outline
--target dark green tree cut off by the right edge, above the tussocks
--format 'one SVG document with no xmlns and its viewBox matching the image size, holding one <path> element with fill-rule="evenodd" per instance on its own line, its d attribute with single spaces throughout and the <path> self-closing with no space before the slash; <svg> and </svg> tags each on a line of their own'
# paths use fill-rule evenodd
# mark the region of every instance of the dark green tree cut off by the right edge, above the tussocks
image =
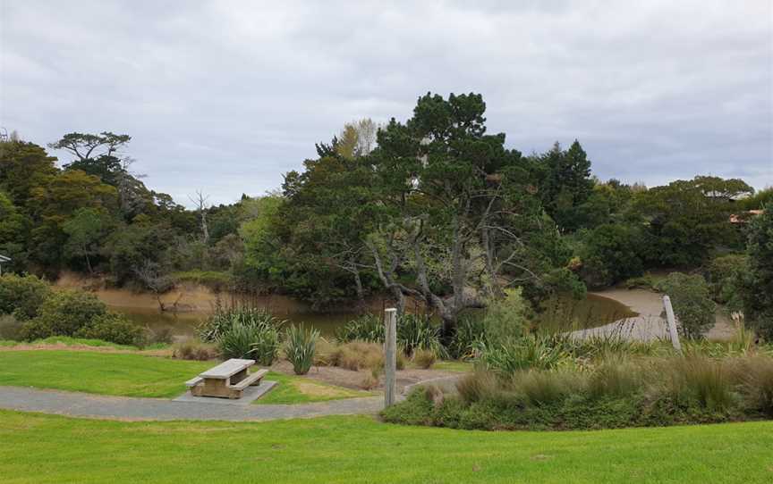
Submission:
<svg viewBox="0 0 773 484">
<path fill-rule="evenodd" d="M 773 205 L 750 221 L 747 253 L 743 313 L 760 336 L 773 341 Z"/>
</svg>

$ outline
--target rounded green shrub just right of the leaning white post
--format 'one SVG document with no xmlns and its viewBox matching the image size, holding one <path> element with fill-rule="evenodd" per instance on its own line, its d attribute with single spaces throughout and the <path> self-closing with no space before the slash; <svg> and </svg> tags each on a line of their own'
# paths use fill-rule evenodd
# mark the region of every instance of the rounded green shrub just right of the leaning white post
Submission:
<svg viewBox="0 0 773 484">
<path fill-rule="evenodd" d="M 701 338 L 714 326 L 717 305 L 711 300 L 709 286 L 700 274 L 672 272 L 658 282 L 657 289 L 671 298 L 679 330 L 686 338 Z"/>
</svg>

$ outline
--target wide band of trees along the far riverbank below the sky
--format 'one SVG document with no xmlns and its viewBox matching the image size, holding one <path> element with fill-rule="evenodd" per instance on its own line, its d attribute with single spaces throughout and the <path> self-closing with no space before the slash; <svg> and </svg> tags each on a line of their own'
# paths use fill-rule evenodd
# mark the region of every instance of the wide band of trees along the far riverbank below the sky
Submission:
<svg viewBox="0 0 773 484">
<path fill-rule="evenodd" d="M 210 206 L 204 188 L 193 209 L 132 171 L 128 135 L 65 134 L 48 145 L 69 154 L 61 167 L 46 147 L 6 138 L 4 270 L 159 294 L 199 280 L 319 307 L 412 296 L 453 324 L 510 287 L 536 305 L 648 269 L 745 267 L 748 211 L 770 188 L 602 181 L 579 141 L 522 154 L 488 133 L 485 109 L 480 95 L 421 96 L 407 121 L 347 124 L 276 192 Z"/>
</svg>

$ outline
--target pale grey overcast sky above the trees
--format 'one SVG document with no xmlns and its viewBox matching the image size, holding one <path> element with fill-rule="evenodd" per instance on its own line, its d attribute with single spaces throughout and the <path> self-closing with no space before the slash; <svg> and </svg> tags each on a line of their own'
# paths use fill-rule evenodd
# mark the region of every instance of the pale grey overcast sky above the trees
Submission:
<svg viewBox="0 0 773 484">
<path fill-rule="evenodd" d="M 428 91 L 481 93 L 525 154 L 579 138 L 602 179 L 773 185 L 770 0 L 0 5 L 0 126 L 130 134 L 183 204 L 277 188 L 344 122 Z"/>
</svg>

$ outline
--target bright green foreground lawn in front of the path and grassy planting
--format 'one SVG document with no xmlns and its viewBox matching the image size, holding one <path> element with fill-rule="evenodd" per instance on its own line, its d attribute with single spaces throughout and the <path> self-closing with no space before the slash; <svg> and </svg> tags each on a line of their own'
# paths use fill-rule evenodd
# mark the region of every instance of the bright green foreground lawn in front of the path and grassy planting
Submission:
<svg viewBox="0 0 773 484">
<path fill-rule="evenodd" d="M 0 442 L 6 484 L 773 481 L 773 422 L 481 432 L 370 417 L 126 422 L 0 411 Z"/>
</svg>

